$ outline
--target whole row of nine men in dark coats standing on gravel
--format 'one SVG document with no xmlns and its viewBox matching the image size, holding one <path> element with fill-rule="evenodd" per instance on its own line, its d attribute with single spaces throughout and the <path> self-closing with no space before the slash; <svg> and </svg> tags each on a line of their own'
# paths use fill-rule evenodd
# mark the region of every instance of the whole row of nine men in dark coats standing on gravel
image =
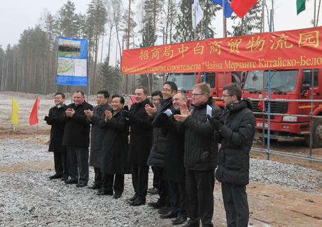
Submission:
<svg viewBox="0 0 322 227">
<path fill-rule="evenodd" d="M 216 177 L 222 182 L 228 226 L 247 226 L 246 185 L 255 116 L 251 102 L 247 98 L 241 100 L 237 84 L 226 85 L 223 94 L 224 115 L 214 104 L 206 83 L 193 87 L 191 107 L 187 105 L 186 94 L 177 93 L 173 82 L 164 83 L 158 108 L 149 101 L 147 88 L 142 86 L 136 88 L 136 102 L 129 110 L 124 108 L 121 96 L 113 96 L 112 107 L 109 106 L 107 91 L 98 91 L 98 105 L 94 109 L 82 100 L 82 91 L 75 92 L 74 103 L 68 107 L 58 101 L 65 98 L 63 94 L 56 94 L 56 105 L 45 119 L 52 125 L 50 151 L 54 151 L 56 170 L 50 178 L 69 174 L 67 184 L 87 185 L 89 125 L 92 125 L 89 164 L 94 166 L 95 181 L 89 188 L 100 188 L 97 195 L 119 198 L 124 190 L 124 174 L 131 173 L 134 195 L 127 201 L 131 206 L 145 204 L 149 166 L 154 166 L 163 181 L 158 202 L 149 206 L 161 208 L 169 200 L 171 207 L 161 218 L 174 218 L 173 224 L 177 225 L 189 217 L 186 227 L 200 226 L 200 221 L 202 226 L 213 226 Z M 54 146 L 58 149 L 56 143 L 61 139 L 54 138 L 55 131 L 62 131 L 64 124 L 62 144 L 67 147 L 68 173 L 58 165 L 66 158 L 56 155 L 53 149 Z M 75 139 L 79 133 L 84 133 L 82 141 Z M 222 147 L 217 158 L 219 143 Z"/>
</svg>

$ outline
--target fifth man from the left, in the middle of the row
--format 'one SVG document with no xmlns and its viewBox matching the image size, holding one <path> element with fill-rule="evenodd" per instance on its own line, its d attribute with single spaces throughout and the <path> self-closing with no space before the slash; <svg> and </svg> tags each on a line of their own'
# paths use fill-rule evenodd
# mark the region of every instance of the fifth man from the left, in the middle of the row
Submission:
<svg viewBox="0 0 322 227">
<path fill-rule="evenodd" d="M 152 103 L 147 99 L 147 88 L 136 87 L 136 103 L 129 111 L 122 110 L 120 114 L 128 118 L 131 126 L 128 162 L 131 164 L 132 183 L 135 194 L 129 199 L 131 206 L 145 204 L 149 180 L 147 159 L 152 145 L 152 126 L 145 112 L 145 105 Z"/>
</svg>

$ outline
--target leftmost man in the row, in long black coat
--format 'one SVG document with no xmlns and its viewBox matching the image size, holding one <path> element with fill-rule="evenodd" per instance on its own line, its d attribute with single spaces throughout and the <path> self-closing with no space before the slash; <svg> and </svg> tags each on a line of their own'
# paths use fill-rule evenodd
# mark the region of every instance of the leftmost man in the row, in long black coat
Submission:
<svg viewBox="0 0 322 227">
<path fill-rule="evenodd" d="M 61 116 L 65 114 L 67 106 L 65 105 L 65 94 L 57 92 L 55 94 L 55 106 L 45 116 L 47 125 L 52 125 L 50 129 L 50 146 L 48 151 L 54 152 L 55 174 L 50 176 L 50 180 L 61 178 L 65 181 L 68 179 L 67 151 L 61 143 L 64 136 L 65 122 L 61 121 Z"/>
</svg>

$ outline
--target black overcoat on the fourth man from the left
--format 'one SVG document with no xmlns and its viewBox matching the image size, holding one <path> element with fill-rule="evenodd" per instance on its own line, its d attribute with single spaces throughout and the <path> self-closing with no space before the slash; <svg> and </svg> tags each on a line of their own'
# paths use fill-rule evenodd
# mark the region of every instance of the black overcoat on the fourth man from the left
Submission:
<svg viewBox="0 0 322 227">
<path fill-rule="evenodd" d="M 129 174 L 129 125 L 119 113 L 105 122 L 100 171 L 105 174 Z"/>
</svg>

